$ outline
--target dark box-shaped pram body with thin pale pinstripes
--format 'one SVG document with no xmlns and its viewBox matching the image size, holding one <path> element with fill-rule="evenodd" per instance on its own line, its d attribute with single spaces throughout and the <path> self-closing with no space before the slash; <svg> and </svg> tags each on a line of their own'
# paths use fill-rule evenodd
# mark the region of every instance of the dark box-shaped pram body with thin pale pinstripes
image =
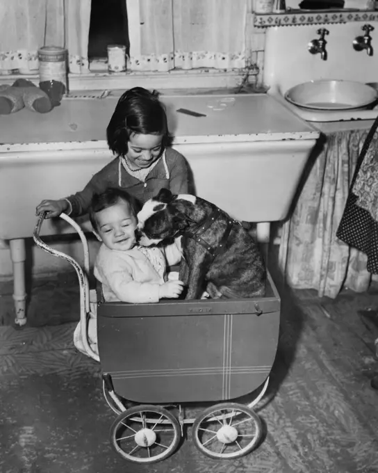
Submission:
<svg viewBox="0 0 378 473">
<path fill-rule="evenodd" d="M 280 301 L 263 298 L 99 303 L 101 368 L 140 403 L 224 401 L 256 390 L 277 350 Z"/>
</svg>

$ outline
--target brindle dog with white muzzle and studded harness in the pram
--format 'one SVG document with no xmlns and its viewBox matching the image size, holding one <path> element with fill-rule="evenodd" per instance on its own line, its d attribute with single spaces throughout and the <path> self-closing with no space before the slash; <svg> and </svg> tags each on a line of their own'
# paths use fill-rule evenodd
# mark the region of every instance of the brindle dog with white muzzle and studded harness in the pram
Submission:
<svg viewBox="0 0 378 473">
<path fill-rule="evenodd" d="M 265 264 L 247 230 L 204 199 L 161 189 L 138 214 L 138 241 L 151 246 L 181 235 L 179 279 L 186 299 L 198 299 L 204 290 L 211 298 L 265 294 Z"/>
</svg>

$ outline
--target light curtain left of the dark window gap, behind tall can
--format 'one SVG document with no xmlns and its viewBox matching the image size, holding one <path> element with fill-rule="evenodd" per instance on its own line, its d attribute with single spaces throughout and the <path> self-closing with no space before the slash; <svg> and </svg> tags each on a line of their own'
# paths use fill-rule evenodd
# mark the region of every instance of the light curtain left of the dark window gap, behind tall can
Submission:
<svg viewBox="0 0 378 473">
<path fill-rule="evenodd" d="M 69 71 L 88 72 L 91 0 L 0 2 L 0 74 L 38 73 L 38 49 L 65 47 Z"/>
</svg>

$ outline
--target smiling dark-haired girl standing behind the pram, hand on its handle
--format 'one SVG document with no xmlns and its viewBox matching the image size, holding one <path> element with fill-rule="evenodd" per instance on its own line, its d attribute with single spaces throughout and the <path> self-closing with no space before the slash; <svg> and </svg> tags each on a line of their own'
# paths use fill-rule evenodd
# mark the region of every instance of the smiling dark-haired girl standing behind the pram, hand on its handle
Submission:
<svg viewBox="0 0 378 473">
<path fill-rule="evenodd" d="M 86 214 L 95 193 L 108 187 L 126 189 L 141 204 L 162 188 L 188 193 L 188 163 L 169 147 L 172 137 L 167 115 L 156 91 L 135 87 L 119 99 L 106 129 L 108 146 L 116 158 L 95 174 L 81 192 L 61 200 L 42 200 L 36 214 L 47 218 L 65 212 Z"/>
</svg>

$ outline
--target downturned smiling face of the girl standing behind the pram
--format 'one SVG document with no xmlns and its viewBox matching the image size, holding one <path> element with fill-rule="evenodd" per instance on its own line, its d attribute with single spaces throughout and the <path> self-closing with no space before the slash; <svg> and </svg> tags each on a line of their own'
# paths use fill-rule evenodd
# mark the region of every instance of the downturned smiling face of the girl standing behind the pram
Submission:
<svg viewBox="0 0 378 473">
<path fill-rule="evenodd" d="M 133 168 L 146 169 L 161 154 L 163 135 L 131 134 L 126 157 Z"/>
</svg>

